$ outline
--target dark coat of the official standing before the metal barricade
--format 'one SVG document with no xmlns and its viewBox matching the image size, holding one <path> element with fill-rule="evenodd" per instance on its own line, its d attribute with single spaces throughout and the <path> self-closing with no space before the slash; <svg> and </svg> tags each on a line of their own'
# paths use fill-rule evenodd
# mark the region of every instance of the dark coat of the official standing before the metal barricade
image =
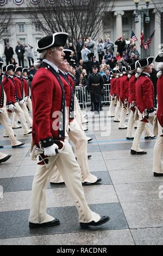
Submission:
<svg viewBox="0 0 163 256">
<path fill-rule="evenodd" d="M 95 85 L 96 84 L 96 85 Z M 101 75 L 91 74 L 87 80 L 87 89 L 91 93 L 93 102 L 101 102 L 101 95 L 104 86 L 104 81 Z"/>
</svg>

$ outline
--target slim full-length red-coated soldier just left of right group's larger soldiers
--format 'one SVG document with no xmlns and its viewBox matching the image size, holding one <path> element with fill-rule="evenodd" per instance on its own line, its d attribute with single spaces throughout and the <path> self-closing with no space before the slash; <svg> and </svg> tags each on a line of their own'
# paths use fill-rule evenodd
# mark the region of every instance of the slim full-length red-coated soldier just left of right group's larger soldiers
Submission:
<svg viewBox="0 0 163 256">
<path fill-rule="evenodd" d="M 128 111 L 128 90 L 129 90 L 129 78 L 128 78 L 128 70 L 126 66 L 122 68 L 121 74 L 121 88 L 120 88 L 120 100 L 122 102 L 122 111 L 120 117 L 120 124 L 118 129 L 123 130 L 127 129 L 127 126 L 124 125 L 126 120 L 126 115 Z"/>
</svg>

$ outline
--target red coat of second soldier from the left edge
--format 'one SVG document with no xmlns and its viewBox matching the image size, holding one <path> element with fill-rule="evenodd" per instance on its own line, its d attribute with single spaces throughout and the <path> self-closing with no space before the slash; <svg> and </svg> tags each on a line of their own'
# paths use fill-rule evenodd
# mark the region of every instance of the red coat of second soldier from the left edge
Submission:
<svg viewBox="0 0 163 256">
<path fill-rule="evenodd" d="M 9 76 L 5 76 L 2 84 L 4 87 L 4 91 L 7 95 L 7 103 L 6 104 L 11 105 L 11 104 L 14 104 L 15 102 L 17 102 L 17 100 L 18 100 L 17 87 L 16 87 L 16 84 L 14 83 L 14 80 Z"/>
</svg>

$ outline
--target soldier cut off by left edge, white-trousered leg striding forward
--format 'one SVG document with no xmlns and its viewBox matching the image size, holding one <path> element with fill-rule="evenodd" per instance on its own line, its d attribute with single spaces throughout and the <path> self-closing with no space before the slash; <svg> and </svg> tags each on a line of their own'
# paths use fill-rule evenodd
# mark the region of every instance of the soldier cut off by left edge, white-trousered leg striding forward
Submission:
<svg viewBox="0 0 163 256">
<path fill-rule="evenodd" d="M 3 84 L 1 82 L 1 66 L 0 66 L 0 121 L 3 124 L 5 131 L 7 132 L 7 136 L 11 140 L 11 147 L 18 148 L 18 147 L 21 147 L 22 145 L 24 145 L 24 143 L 17 141 L 17 139 L 15 138 L 14 132 L 11 127 L 11 122 L 8 117 L 6 102 L 7 102 L 7 96 L 5 94 Z M 7 157 L 7 155 L 4 157 Z M 2 159 L 4 157 L 2 157 Z M 0 157 L 0 159 L 1 159 L 1 157 Z"/>
</svg>

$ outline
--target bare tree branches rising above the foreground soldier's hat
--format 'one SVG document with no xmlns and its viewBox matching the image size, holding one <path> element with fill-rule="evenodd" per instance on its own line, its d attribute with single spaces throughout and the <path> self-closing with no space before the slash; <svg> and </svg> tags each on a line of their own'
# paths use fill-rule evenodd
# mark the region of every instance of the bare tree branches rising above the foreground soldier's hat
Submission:
<svg viewBox="0 0 163 256">
<path fill-rule="evenodd" d="M 63 31 L 70 35 L 76 46 L 78 38 L 96 40 L 102 31 L 105 13 L 112 10 L 112 0 L 40 0 L 33 7 L 28 3 L 28 17 L 40 26 L 45 34 Z"/>
</svg>

